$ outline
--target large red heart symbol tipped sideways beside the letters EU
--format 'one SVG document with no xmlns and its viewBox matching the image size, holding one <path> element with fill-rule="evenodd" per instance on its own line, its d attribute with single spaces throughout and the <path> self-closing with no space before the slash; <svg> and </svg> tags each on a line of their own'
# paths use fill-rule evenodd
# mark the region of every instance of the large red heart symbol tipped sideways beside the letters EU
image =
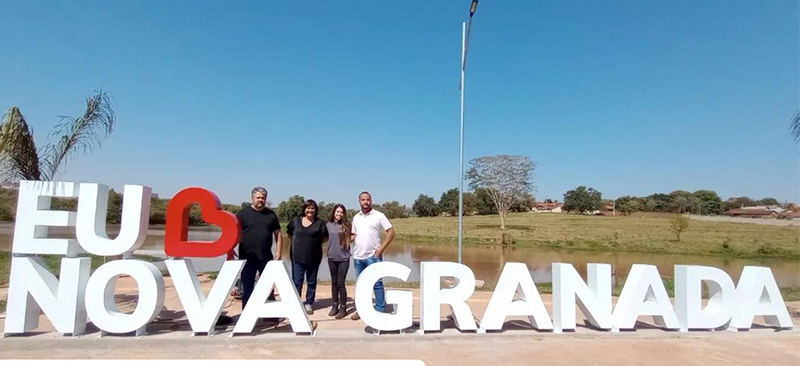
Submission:
<svg viewBox="0 0 800 366">
<path fill-rule="evenodd" d="M 205 222 L 222 229 L 222 236 L 216 241 L 188 241 L 189 210 L 193 203 L 200 205 Z M 189 187 L 169 201 L 164 231 L 164 252 L 170 257 L 218 257 L 239 243 L 242 226 L 236 215 L 222 210 L 216 194 L 205 188 Z"/>
</svg>

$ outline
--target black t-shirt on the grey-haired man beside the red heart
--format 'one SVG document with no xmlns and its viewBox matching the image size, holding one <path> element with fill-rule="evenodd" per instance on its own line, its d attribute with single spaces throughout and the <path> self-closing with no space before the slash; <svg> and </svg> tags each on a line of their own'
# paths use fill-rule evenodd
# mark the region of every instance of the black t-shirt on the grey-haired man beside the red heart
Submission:
<svg viewBox="0 0 800 366">
<path fill-rule="evenodd" d="M 281 229 L 278 216 L 268 208 L 256 211 L 247 206 L 236 213 L 242 225 L 239 239 L 239 258 L 272 260 L 272 240 L 275 230 Z"/>
</svg>

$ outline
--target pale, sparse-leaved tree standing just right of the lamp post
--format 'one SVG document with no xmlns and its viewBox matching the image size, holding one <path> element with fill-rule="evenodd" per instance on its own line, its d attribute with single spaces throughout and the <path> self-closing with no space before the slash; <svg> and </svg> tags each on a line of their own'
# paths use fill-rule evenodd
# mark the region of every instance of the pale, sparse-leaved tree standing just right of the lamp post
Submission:
<svg viewBox="0 0 800 366">
<path fill-rule="evenodd" d="M 470 160 L 467 179 L 472 189 L 484 188 L 500 215 L 500 229 L 514 203 L 533 190 L 536 163 L 527 156 L 495 155 Z"/>
</svg>

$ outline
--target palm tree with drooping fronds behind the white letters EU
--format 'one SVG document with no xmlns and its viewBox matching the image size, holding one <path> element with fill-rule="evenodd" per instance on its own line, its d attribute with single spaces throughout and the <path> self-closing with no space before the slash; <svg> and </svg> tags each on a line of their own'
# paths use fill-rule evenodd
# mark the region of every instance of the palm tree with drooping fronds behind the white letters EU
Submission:
<svg viewBox="0 0 800 366">
<path fill-rule="evenodd" d="M 86 111 L 79 118 L 60 116 L 48 135 L 58 141 L 36 148 L 33 134 L 18 107 L 11 107 L 0 124 L 0 177 L 4 182 L 18 179 L 53 180 L 77 152 L 87 153 L 100 146 L 100 138 L 114 130 L 114 110 L 102 91 L 86 99 Z"/>
</svg>

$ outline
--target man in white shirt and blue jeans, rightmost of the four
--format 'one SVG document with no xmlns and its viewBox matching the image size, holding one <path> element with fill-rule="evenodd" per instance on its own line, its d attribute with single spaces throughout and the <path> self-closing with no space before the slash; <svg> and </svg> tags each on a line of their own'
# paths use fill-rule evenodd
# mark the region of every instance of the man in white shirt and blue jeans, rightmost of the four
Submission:
<svg viewBox="0 0 800 366">
<path fill-rule="evenodd" d="M 383 252 L 394 239 L 392 223 L 383 213 L 372 209 L 372 195 L 361 192 L 358 195 L 361 206 L 353 217 L 353 227 L 350 230 L 350 240 L 353 242 L 353 264 L 356 267 L 356 278 L 367 266 L 383 261 Z M 386 232 L 386 237 L 381 241 L 381 234 Z M 375 291 L 375 309 L 379 312 L 386 311 L 386 299 L 383 292 L 383 281 L 378 280 L 373 287 Z M 356 309 L 358 310 L 358 309 Z M 353 314 L 353 320 L 359 320 L 358 313 Z"/>
</svg>

